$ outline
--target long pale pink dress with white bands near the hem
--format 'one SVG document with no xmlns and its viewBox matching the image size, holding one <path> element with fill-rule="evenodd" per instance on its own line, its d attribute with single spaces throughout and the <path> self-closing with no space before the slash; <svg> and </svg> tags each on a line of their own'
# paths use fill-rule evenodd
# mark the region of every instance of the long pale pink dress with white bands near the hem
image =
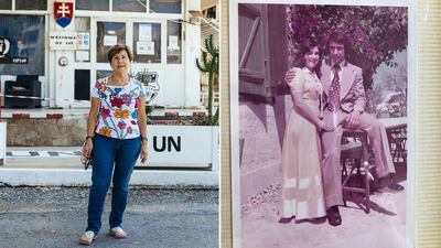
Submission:
<svg viewBox="0 0 441 248">
<path fill-rule="evenodd" d="M 310 109 L 320 115 L 322 84 L 308 68 L 297 69 L 291 95 L 300 93 Z M 282 148 L 282 217 L 306 219 L 325 216 L 319 130 L 299 114 L 289 116 Z"/>
</svg>

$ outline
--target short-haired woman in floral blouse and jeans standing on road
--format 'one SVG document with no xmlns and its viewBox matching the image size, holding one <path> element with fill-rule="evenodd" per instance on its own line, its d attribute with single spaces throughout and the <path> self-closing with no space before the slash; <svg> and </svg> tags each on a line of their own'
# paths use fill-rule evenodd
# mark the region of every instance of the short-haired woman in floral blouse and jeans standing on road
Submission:
<svg viewBox="0 0 441 248">
<path fill-rule="evenodd" d="M 146 90 L 142 83 L 130 78 L 128 74 L 133 56 L 127 45 L 117 44 L 107 52 L 107 57 L 114 73 L 98 79 L 92 90 L 87 137 L 83 147 L 83 154 L 86 158 L 92 155 L 94 161 L 87 228 L 79 237 L 83 245 L 90 245 L 101 227 L 110 181 L 109 231 L 115 238 L 127 237 L 121 224 L 130 175 L 138 155 L 142 163 L 148 155 Z"/>
</svg>

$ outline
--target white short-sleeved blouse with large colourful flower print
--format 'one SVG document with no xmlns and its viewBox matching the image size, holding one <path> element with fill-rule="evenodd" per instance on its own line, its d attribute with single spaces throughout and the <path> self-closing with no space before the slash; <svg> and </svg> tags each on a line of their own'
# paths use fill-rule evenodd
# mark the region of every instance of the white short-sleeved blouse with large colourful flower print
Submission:
<svg viewBox="0 0 441 248">
<path fill-rule="evenodd" d="M 95 132 L 117 139 L 139 137 L 137 117 L 140 98 L 146 97 L 143 84 L 133 78 L 125 86 L 110 86 L 107 82 L 108 77 L 98 79 L 90 94 L 101 103 Z"/>
</svg>

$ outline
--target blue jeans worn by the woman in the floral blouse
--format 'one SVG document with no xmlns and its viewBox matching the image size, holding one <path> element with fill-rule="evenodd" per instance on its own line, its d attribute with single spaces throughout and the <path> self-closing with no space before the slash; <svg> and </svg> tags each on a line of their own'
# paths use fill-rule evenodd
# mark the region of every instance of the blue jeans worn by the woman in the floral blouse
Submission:
<svg viewBox="0 0 441 248">
<path fill-rule="evenodd" d="M 114 186 L 109 225 L 110 228 L 121 226 L 122 215 L 127 205 L 130 175 L 140 150 L 140 137 L 115 139 L 95 133 L 86 230 L 97 234 L 101 228 L 101 215 L 110 180 Z"/>
</svg>

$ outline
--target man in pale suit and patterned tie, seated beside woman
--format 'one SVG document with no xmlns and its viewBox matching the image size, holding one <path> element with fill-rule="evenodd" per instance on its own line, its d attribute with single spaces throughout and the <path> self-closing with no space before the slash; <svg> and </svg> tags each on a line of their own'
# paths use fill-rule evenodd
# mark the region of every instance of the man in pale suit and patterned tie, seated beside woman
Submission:
<svg viewBox="0 0 441 248">
<path fill-rule="evenodd" d="M 329 58 L 321 66 L 321 82 L 325 94 L 324 120 L 335 129 L 322 133 L 323 148 L 323 190 L 327 220 L 333 226 L 342 224 L 338 205 L 343 205 L 342 172 L 340 163 L 343 129 L 362 129 L 367 132 L 375 157 L 375 172 L 380 187 L 401 191 L 404 187 L 394 181 L 395 166 L 390 155 L 385 127 L 365 114 L 366 97 L 363 86 L 362 68 L 346 61 L 348 42 L 342 33 L 332 33 L 326 50 Z M 286 80 L 295 77 L 289 71 Z"/>
</svg>

